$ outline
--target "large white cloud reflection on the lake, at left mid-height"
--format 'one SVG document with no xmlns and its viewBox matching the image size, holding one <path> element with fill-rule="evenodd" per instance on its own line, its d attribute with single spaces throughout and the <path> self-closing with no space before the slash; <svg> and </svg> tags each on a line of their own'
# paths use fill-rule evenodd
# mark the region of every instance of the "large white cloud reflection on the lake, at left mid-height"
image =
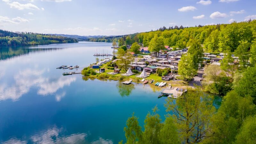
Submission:
<svg viewBox="0 0 256 144">
<path fill-rule="evenodd" d="M 0 84 L 0 100 L 19 100 L 23 94 L 29 92 L 32 86 L 38 88 L 37 94 L 39 95 L 54 94 L 64 86 L 69 86 L 72 82 L 76 81 L 74 76 L 60 76 L 58 79 L 42 76 L 46 71 L 46 69 L 32 70 L 30 68 L 20 71 L 14 75 L 14 83 L 12 85 Z M 64 96 L 65 93 L 57 94 L 56 100 L 58 101 Z"/>
</svg>

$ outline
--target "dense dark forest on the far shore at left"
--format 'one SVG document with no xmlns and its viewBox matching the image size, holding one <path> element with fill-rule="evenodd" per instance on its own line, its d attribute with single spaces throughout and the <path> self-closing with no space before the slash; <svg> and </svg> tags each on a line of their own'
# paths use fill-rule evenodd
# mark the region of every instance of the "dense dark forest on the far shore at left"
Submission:
<svg viewBox="0 0 256 144">
<path fill-rule="evenodd" d="M 31 32 L 10 32 L 0 30 L 0 46 L 21 46 L 39 44 L 61 44 L 77 43 L 73 38 L 55 36 L 49 34 L 38 34 Z"/>
</svg>

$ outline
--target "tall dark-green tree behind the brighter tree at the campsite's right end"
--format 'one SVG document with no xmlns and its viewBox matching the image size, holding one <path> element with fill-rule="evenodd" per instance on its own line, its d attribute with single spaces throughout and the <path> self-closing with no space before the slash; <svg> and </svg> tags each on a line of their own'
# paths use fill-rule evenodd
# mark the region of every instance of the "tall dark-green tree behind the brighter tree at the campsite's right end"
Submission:
<svg viewBox="0 0 256 144">
<path fill-rule="evenodd" d="M 188 46 L 188 54 L 192 57 L 194 69 L 198 69 L 198 65 L 203 61 L 203 47 L 196 39 L 190 39 Z"/>
</svg>

